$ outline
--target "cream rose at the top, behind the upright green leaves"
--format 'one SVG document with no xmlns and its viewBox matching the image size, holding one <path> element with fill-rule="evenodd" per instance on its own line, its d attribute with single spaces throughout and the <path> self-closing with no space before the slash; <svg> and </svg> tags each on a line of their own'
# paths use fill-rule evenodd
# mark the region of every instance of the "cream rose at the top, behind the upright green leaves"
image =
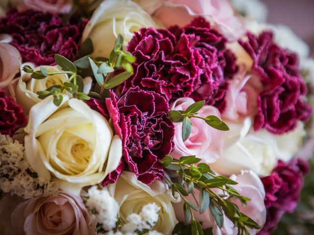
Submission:
<svg viewBox="0 0 314 235">
<path fill-rule="evenodd" d="M 142 27 L 156 27 L 156 24 L 138 4 L 131 0 L 105 0 L 87 23 L 82 40 L 92 40 L 92 56 L 109 57 L 119 34 L 123 36 L 123 46 L 126 47 L 133 32 Z"/>
</svg>

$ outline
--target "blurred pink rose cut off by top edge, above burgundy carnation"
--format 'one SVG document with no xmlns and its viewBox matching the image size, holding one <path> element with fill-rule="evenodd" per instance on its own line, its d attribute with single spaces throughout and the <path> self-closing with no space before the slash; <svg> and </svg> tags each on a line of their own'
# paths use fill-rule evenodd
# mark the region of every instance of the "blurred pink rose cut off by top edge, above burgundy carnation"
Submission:
<svg viewBox="0 0 314 235">
<path fill-rule="evenodd" d="M 52 13 L 69 13 L 72 8 L 72 0 L 24 0 L 24 3 L 27 8 Z"/>
</svg>

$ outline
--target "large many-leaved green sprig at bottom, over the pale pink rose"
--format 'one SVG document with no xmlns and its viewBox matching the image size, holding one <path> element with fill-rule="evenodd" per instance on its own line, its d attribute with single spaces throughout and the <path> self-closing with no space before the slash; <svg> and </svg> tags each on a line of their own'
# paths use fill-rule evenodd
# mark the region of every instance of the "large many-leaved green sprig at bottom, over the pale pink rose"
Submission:
<svg viewBox="0 0 314 235">
<path fill-rule="evenodd" d="M 216 175 L 208 164 L 199 163 L 200 161 L 196 156 L 184 156 L 177 161 L 167 155 L 161 162 L 165 169 L 176 172 L 175 177 L 169 176 L 171 174 L 165 177 L 166 183 L 171 187 L 173 196 L 176 192 L 181 195 L 184 201 L 185 223 L 191 226 L 192 235 L 204 234 L 200 222 L 194 218 L 193 210 L 202 214 L 208 208 L 219 228 L 223 225 L 225 214 L 238 228 L 239 235 L 249 235 L 248 229 L 260 229 L 260 226 L 241 213 L 232 201 L 239 200 L 243 205 L 250 201 L 232 187 L 237 183 L 228 177 Z M 219 189 L 221 193 L 217 193 L 214 188 Z M 200 191 L 199 199 L 195 197 L 194 189 Z M 195 204 L 185 198 L 189 194 L 193 196 Z"/>
</svg>

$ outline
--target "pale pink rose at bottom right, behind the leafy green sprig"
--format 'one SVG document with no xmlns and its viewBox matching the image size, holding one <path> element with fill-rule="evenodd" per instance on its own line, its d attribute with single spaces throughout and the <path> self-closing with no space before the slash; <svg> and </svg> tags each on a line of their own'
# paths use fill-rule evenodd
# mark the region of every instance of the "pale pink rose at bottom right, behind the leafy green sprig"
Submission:
<svg viewBox="0 0 314 235">
<path fill-rule="evenodd" d="M 230 178 L 238 183 L 234 186 L 234 188 L 241 195 L 251 199 L 251 201 L 247 202 L 247 205 L 245 206 L 242 206 L 239 200 L 234 200 L 234 202 L 237 204 L 242 213 L 249 216 L 262 227 L 266 220 L 266 208 L 264 205 L 265 190 L 261 179 L 253 171 L 242 171 L 241 174 L 237 176 L 233 175 Z M 214 189 L 214 191 L 216 193 L 221 193 L 220 189 Z M 199 198 L 199 190 L 194 190 L 194 193 L 195 198 Z M 190 202 L 195 203 L 191 194 L 189 194 L 186 198 Z M 182 222 L 185 221 L 183 203 L 184 201 L 182 200 L 180 203 L 172 204 L 176 213 L 176 218 Z M 202 214 L 197 211 L 193 211 L 193 214 L 196 220 L 202 222 L 204 229 L 213 228 L 212 232 L 214 235 L 237 234 L 237 228 L 234 228 L 234 224 L 227 216 L 224 216 L 224 224 L 220 230 L 209 209 Z M 250 230 L 251 235 L 255 235 L 257 232 L 257 230 Z"/>
</svg>

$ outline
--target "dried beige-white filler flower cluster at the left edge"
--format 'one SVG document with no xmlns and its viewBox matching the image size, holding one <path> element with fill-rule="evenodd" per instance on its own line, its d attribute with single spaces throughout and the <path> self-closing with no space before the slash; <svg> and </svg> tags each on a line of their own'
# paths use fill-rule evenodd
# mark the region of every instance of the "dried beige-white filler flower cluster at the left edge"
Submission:
<svg viewBox="0 0 314 235">
<path fill-rule="evenodd" d="M 56 183 L 38 178 L 24 155 L 24 146 L 0 135 L 0 189 L 24 198 L 48 195 L 57 191 Z"/>
</svg>

